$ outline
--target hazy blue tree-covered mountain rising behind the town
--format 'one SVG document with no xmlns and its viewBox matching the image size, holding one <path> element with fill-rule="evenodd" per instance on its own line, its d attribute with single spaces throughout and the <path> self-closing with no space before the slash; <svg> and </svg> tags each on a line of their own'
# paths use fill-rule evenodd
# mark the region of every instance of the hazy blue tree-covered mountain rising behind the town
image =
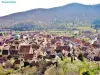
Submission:
<svg viewBox="0 0 100 75">
<path fill-rule="evenodd" d="M 50 9 L 33 9 L 0 17 L 1 27 L 30 23 L 46 28 L 65 28 L 65 25 L 90 25 L 100 19 L 100 4 L 71 3 Z M 64 26 L 64 27 L 63 27 Z"/>
</svg>

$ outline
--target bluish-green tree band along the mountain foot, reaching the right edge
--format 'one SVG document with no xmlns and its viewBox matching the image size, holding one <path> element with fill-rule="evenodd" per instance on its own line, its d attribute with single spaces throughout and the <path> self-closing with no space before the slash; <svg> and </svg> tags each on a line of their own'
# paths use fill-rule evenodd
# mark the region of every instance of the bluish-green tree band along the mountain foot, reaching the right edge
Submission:
<svg viewBox="0 0 100 75">
<path fill-rule="evenodd" d="M 92 28 L 100 29 L 100 20 L 94 20 Z M 29 30 L 73 30 L 77 29 L 78 26 L 91 26 L 91 24 L 78 24 L 77 22 L 53 22 L 50 24 L 46 23 L 18 23 L 8 27 L 15 31 L 29 31 Z M 6 26 L 7 27 L 7 26 Z"/>
</svg>

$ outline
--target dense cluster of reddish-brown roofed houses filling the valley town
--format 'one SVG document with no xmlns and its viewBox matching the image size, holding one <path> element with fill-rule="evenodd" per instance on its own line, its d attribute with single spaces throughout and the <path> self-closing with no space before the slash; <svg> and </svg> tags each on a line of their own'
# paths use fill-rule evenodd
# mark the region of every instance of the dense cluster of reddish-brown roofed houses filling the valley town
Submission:
<svg viewBox="0 0 100 75">
<path fill-rule="evenodd" d="M 31 62 L 62 56 L 77 59 L 80 53 L 89 61 L 100 61 L 100 34 L 94 36 L 88 42 L 46 32 L 20 32 L 8 34 L 6 38 L 0 36 L 0 63 L 4 63 L 9 57 Z"/>
</svg>

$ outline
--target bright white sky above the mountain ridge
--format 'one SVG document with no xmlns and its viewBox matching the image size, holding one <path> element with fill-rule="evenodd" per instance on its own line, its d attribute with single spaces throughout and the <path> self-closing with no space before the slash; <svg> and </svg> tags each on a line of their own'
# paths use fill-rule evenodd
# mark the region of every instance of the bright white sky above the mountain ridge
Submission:
<svg viewBox="0 0 100 75">
<path fill-rule="evenodd" d="M 10 3 L 11 1 L 15 3 Z M 100 0 L 0 0 L 0 16 L 36 8 L 53 8 L 66 5 L 68 3 L 93 5 L 99 4 Z"/>
</svg>

